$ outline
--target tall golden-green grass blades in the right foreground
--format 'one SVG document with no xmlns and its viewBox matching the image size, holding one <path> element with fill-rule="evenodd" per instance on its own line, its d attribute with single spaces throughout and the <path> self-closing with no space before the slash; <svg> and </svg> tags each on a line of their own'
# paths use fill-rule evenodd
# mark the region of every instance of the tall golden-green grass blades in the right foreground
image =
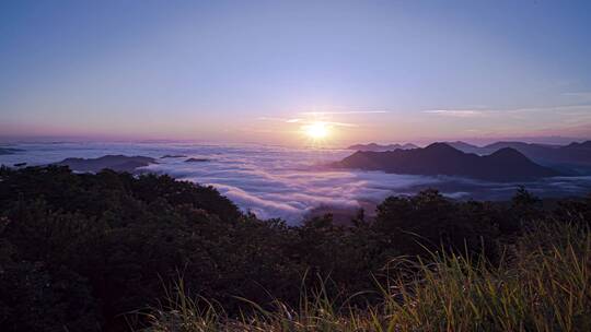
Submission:
<svg viewBox="0 0 591 332">
<path fill-rule="evenodd" d="M 321 280 L 313 290 L 302 287 L 298 308 L 242 299 L 252 310 L 231 317 L 219 304 L 192 299 L 179 281 L 147 331 L 591 331 L 587 226 L 538 225 L 503 249 L 495 265 L 432 253 L 410 277 L 376 284 L 381 304 L 363 309 L 331 299 Z"/>
</svg>

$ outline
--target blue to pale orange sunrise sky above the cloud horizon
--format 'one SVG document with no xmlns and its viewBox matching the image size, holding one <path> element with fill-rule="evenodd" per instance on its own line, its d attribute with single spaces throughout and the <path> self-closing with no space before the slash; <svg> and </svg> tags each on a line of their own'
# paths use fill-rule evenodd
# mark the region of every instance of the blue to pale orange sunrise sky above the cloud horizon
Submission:
<svg viewBox="0 0 591 332">
<path fill-rule="evenodd" d="M 589 139 L 591 2 L 1 1 L 0 138 Z"/>
</svg>

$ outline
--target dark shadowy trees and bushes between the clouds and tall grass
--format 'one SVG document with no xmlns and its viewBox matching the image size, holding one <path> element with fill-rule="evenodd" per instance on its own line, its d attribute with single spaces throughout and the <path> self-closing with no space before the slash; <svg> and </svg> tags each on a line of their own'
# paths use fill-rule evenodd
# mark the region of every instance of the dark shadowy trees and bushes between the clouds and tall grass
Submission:
<svg viewBox="0 0 591 332">
<path fill-rule="evenodd" d="M 348 226 L 331 215 L 288 226 L 241 213 L 211 187 L 169 176 L 0 167 L 0 331 L 128 331 L 126 313 L 158 308 L 171 297 L 163 285 L 179 275 L 183 294 L 200 298 L 183 309 L 187 315 L 264 310 L 268 321 L 279 310 L 317 323 L 327 310 L 340 320 L 336 308 L 347 308 L 367 319 L 384 300 L 367 290 L 425 273 L 417 261 L 445 256 L 498 266 L 499 244 L 521 248 L 515 238 L 533 217 L 590 221 L 591 197 L 553 206 L 524 190 L 511 204 L 456 202 L 428 190 L 389 198 L 374 218 L 360 211 Z M 408 262 L 394 264 L 401 256 Z M 163 310 L 154 320 L 151 312 L 132 325 L 176 315 Z"/>
</svg>

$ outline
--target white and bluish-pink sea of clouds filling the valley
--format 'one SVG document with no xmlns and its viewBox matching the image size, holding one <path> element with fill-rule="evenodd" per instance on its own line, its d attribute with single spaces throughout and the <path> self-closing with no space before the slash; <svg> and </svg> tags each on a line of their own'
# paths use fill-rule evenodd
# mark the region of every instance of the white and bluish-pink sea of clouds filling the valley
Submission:
<svg viewBox="0 0 591 332">
<path fill-rule="evenodd" d="M 346 150 L 298 150 L 269 145 L 206 145 L 188 143 L 21 143 L 23 152 L 0 155 L 0 164 L 44 165 L 67 157 L 107 154 L 142 155 L 158 159 L 146 170 L 213 186 L 244 211 L 262 218 L 298 223 L 318 206 L 356 210 L 372 206 L 392 194 L 413 194 L 437 188 L 455 199 L 510 198 L 518 185 L 449 177 L 394 175 L 381 171 L 333 169 Z M 161 158 L 164 155 L 185 155 Z M 189 157 L 208 162 L 186 163 Z M 591 190 L 591 177 L 552 178 L 523 183 L 540 195 L 573 195 Z"/>
</svg>

